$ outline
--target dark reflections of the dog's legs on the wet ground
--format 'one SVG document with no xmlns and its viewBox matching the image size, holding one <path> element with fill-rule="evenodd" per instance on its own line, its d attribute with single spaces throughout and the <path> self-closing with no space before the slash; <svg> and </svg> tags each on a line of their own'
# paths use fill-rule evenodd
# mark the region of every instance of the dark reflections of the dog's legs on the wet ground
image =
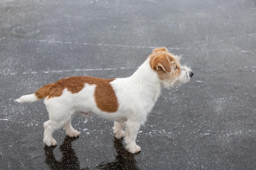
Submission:
<svg viewBox="0 0 256 170">
<path fill-rule="evenodd" d="M 62 153 L 61 161 L 57 161 L 54 157 L 53 150 L 56 146 L 45 146 L 45 163 L 52 170 L 90 170 L 89 168 L 81 168 L 76 152 L 72 148 L 71 142 L 78 137 L 66 136 L 63 144 L 60 146 Z M 109 163 L 101 163 L 97 166 L 98 170 L 139 170 L 136 165 L 135 154 L 129 153 L 122 144 L 122 139 L 114 138 L 114 147 L 117 150 L 116 160 Z M 91 169 L 92 170 L 92 169 Z"/>
</svg>

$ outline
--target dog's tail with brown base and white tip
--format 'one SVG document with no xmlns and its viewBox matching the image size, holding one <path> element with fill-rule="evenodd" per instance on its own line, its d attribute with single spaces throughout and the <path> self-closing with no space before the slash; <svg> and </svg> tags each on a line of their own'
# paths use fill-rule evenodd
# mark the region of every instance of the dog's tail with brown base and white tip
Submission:
<svg viewBox="0 0 256 170">
<path fill-rule="evenodd" d="M 43 99 L 47 97 L 52 89 L 52 86 L 54 84 L 47 84 L 43 86 L 42 88 L 39 88 L 38 91 L 31 95 L 24 95 L 21 96 L 19 99 L 16 99 L 15 101 L 18 103 L 30 103 L 30 102 L 36 102 L 40 99 Z"/>
</svg>

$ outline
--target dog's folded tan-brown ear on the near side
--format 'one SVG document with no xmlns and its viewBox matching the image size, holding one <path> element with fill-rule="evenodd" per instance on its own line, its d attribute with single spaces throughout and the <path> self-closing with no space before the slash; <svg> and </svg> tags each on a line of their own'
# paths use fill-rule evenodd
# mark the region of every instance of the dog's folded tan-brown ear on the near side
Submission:
<svg viewBox="0 0 256 170">
<path fill-rule="evenodd" d="M 171 64 L 165 55 L 154 57 L 150 60 L 150 66 L 155 71 L 171 72 Z"/>
</svg>

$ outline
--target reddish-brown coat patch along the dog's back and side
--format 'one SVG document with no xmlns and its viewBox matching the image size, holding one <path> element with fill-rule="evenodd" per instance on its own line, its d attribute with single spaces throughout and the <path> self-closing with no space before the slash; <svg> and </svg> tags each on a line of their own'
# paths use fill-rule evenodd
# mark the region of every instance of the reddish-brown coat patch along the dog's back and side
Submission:
<svg viewBox="0 0 256 170">
<path fill-rule="evenodd" d="M 103 79 L 86 76 L 66 77 L 60 79 L 58 82 L 45 86 L 49 86 L 48 98 L 51 98 L 61 96 L 65 88 L 71 93 L 78 93 L 84 88 L 85 84 L 95 84 L 96 87 L 94 91 L 94 99 L 97 107 L 101 111 L 114 113 L 117 111 L 119 105 L 117 97 L 115 95 L 115 91 L 110 84 L 110 82 L 112 82 L 113 80 L 114 79 Z M 44 88 L 45 86 L 43 86 L 42 88 Z M 38 91 L 36 93 L 39 94 Z"/>
</svg>

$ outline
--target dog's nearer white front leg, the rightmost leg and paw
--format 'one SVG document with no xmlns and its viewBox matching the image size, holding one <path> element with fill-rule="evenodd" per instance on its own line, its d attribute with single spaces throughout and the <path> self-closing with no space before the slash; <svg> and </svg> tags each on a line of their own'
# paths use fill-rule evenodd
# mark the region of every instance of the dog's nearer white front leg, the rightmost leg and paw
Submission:
<svg viewBox="0 0 256 170">
<path fill-rule="evenodd" d="M 130 153 L 141 151 L 141 148 L 137 146 L 135 142 L 140 125 L 140 122 L 126 121 L 126 137 L 124 139 L 126 143 L 126 149 Z"/>
</svg>

